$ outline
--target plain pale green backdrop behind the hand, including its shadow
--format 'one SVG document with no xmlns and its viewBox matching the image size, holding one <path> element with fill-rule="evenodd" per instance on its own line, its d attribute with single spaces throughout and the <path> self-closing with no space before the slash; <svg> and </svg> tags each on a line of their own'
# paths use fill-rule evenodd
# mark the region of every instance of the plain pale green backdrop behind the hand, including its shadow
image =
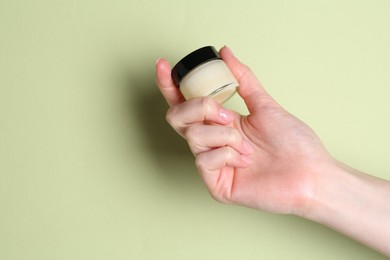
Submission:
<svg viewBox="0 0 390 260">
<path fill-rule="evenodd" d="M 336 158 L 389 179 L 389 13 L 387 0 L 0 0 L 0 259 L 384 259 L 213 201 L 154 65 L 227 44 Z M 226 106 L 246 112 L 238 96 Z"/>
</svg>

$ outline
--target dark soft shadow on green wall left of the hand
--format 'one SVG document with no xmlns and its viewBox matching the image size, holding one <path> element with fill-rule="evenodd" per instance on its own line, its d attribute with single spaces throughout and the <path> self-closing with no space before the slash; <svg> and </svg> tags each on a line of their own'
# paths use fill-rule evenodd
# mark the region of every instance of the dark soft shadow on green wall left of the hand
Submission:
<svg viewBox="0 0 390 260">
<path fill-rule="evenodd" d="M 142 73 L 132 74 L 129 87 L 132 88 L 130 109 L 139 123 L 139 130 L 142 133 L 140 138 L 143 138 L 146 148 L 162 167 L 164 174 L 196 171 L 194 156 L 187 143 L 165 119 L 169 106 L 156 86 L 154 67 Z M 175 175 L 177 175 L 175 178 L 187 180 L 189 175 L 197 177 L 197 174 L 192 173 Z"/>
</svg>

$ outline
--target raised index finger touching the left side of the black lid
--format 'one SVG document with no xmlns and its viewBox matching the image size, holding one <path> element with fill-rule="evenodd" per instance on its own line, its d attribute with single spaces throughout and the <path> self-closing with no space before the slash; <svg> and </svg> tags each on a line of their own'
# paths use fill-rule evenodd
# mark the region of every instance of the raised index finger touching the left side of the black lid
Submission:
<svg viewBox="0 0 390 260">
<path fill-rule="evenodd" d="M 173 83 L 171 66 L 165 59 L 158 59 L 156 62 L 156 83 L 169 106 L 185 101 L 179 88 Z"/>
</svg>

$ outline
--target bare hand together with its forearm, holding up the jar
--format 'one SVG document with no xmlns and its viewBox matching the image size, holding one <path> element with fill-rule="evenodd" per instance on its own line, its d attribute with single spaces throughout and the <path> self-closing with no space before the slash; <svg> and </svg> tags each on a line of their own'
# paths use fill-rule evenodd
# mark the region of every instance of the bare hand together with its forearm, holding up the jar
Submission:
<svg viewBox="0 0 390 260">
<path fill-rule="evenodd" d="M 170 77 L 170 64 L 156 62 L 157 85 L 170 105 L 167 121 L 187 140 L 211 196 L 304 217 L 390 256 L 390 182 L 334 159 L 229 48 L 220 55 L 240 84 L 249 115 L 207 97 L 185 101 Z"/>
</svg>

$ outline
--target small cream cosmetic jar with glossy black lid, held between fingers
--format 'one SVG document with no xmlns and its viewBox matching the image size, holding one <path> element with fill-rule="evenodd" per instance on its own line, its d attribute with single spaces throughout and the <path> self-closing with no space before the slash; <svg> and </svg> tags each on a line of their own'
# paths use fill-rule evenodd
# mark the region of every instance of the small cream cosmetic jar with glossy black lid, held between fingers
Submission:
<svg viewBox="0 0 390 260">
<path fill-rule="evenodd" d="M 173 67 L 171 76 L 185 99 L 209 96 L 223 103 L 238 87 L 237 79 L 213 46 L 185 56 Z"/>
</svg>

